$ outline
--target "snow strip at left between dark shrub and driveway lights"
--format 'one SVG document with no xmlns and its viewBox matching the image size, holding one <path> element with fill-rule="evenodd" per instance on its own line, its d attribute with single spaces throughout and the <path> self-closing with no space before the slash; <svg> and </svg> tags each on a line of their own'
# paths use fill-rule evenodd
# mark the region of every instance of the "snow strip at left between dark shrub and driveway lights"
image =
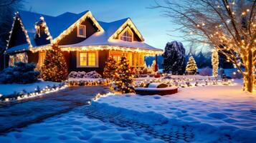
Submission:
<svg viewBox="0 0 256 143">
<path fill-rule="evenodd" d="M 37 88 L 37 86 L 40 89 L 44 89 L 47 86 L 52 87 L 53 85 L 59 85 L 58 82 L 44 82 L 42 80 L 39 80 L 38 82 L 32 83 L 32 84 L 0 84 L 0 94 L 8 95 L 8 94 L 14 94 L 14 92 L 22 92 L 24 89 L 27 92 L 34 92 L 34 89 Z"/>
</svg>

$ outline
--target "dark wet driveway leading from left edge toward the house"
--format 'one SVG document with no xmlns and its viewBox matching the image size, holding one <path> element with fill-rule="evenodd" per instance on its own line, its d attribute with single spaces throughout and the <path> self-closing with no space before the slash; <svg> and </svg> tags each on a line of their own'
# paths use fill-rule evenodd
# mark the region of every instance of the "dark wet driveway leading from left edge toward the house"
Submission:
<svg viewBox="0 0 256 143">
<path fill-rule="evenodd" d="M 29 124 L 70 109 L 88 104 L 95 94 L 108 92 L 108 87 L 68 87 L 42 97 L 27 99 L 12 104 L 0 104 L 0 134 L 14 131 Z"/>
</svg>

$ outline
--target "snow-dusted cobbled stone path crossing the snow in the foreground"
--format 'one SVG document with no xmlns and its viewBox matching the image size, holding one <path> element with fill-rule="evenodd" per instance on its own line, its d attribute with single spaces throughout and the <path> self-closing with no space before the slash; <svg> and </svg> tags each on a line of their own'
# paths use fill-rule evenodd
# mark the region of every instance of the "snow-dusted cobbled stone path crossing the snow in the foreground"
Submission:
<svg viewBox="0 0 256 143">
<path fill-rule="evenodd" d="M 109 122 L 119 127 L 129 127 L 139 136 L 147 134 L 156 139 L 162 139 L 165 142 L 192 142 L 194 133 L 191 127 L 181 127 L 180 129 L 166 129 L 161 127 L 161 124 L 155 124 L 158 127 L 139 122 L 131 117 L 126 117 L 122 113 L 111 113 L 105 109 L 97 109 L 93 106 L 84 106 L 77 109 L 77 112 L 84 113 L 87 117 L 100 119 L 102 122 Z"/>
</svg>

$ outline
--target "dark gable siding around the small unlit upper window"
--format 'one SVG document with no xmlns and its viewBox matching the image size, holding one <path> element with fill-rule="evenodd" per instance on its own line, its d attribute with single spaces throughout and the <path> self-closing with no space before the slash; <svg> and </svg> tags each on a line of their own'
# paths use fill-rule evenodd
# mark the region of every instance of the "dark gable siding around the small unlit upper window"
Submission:
<svg viewBox="0 0 256 143">
<path fill-rule="evenodd" d="M 86 38 L 77 37 L 77 27 L 75 27 L 75 29 L 73 29 L 69 35 L 65 36 L 59 41 L 59 45 L 77 44 L 81 41 L 84 41 L 89 36 L 93 35 L 96 31 L 98 31 L 98 28 L 93 25 L 93 21 L 90 18 L 82 21 L 82 25 L 86 26 Z"/>
</svg>

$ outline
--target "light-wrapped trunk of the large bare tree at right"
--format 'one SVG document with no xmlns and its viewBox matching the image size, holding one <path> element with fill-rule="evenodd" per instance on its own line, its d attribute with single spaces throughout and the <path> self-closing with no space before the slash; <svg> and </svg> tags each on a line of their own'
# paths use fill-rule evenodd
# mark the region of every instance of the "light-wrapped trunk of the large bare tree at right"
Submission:
<svg viewBox="0 0 256 143">
<path fill-rule="evenodd" d="M 247 92 L 252 92 L 253 90 L 253 82 L 254 82 L 254 76 L 253 76 L 253 66 L 252 65 L 252 50 L 249 49 L 248 51 L 248 57 L 247 57 L 247 63 L 245 63 L 245 76 L 244 76 L 244 90 Z"/>
</svg>

